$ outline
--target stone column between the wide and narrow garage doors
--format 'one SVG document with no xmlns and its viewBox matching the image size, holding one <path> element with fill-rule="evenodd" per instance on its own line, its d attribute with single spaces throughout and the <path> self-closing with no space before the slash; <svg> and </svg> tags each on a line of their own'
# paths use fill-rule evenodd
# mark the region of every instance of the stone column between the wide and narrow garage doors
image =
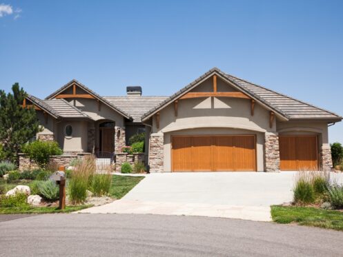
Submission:
<svg viewBox="0 0 343 257">
<path fill-rule="evenodd" d="M 264 142 L 264 168 L 266 172 L 280 172 L 279 134 L 266 132 Z"/>
</svg>

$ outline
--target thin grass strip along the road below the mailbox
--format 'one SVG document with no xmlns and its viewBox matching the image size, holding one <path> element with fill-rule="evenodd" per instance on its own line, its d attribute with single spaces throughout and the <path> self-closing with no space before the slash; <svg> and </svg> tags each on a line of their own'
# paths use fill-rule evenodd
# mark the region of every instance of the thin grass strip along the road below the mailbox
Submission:
<svg viewBox="0 0 343 257">
<path fill-rule="evenodd" d="M 57 209 L 57 207 L 35 207 L 31 205 L 22 205 L 19 207 L 1 207 L 0 214 L 56 214 L 77 212 L 80 209 L 86 209 L 92 205 L 66 206 L 66 209 Z"/>
</svg>

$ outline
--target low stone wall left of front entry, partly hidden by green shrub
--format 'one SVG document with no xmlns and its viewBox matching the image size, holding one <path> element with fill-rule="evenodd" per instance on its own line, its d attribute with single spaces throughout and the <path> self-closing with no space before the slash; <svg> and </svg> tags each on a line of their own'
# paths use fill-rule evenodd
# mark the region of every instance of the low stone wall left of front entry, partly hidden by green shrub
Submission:
<svg viewBox="0 0 343 257">
<path fill-rule="evenodd" d="M 70 162 L 75 158 L 84 158 L 86 156 L 86 153 L 80 153 L 80 154 L 64 154 L 59 156 L 51 156 L 50 162 L 56 163 L 59 166 L 65 166 L 68 167 L 70 165 Z M 26 169 L 37 169 L 39 166 L 26 154 L 19 154 L 19 170 L 23 171 Z"/>
</svg>

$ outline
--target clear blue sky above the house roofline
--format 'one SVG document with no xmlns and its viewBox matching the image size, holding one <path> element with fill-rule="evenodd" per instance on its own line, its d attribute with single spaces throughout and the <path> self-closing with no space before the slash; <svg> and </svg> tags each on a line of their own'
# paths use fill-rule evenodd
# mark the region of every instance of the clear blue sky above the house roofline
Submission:
<svg viewBox="0 0 343 257">
<path fill-rule="evenodd" d="M 0 88 L 43 98 L 77 79 L 104 96 L 170 95 L 216 66 L 343 115 L 342 13 L 343 1 L 0 0 Z"/>
</svg>

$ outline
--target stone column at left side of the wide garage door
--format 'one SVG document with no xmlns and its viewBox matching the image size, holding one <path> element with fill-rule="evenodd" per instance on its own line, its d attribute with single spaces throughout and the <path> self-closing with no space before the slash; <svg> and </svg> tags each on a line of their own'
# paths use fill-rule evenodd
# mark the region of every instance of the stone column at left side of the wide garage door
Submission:
<svg viewBox="0 0 343 257">
<path fill-rule="evenodd" d="M 163 134 L 151 134 L 150 135 L 150 152 L 149 152 L 149 165 L 150 172 L 163 172 L 164 170 L 164 135 Z"/>
</svg>

